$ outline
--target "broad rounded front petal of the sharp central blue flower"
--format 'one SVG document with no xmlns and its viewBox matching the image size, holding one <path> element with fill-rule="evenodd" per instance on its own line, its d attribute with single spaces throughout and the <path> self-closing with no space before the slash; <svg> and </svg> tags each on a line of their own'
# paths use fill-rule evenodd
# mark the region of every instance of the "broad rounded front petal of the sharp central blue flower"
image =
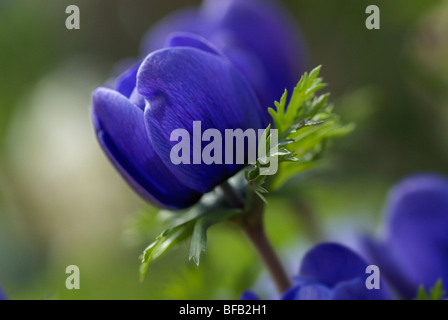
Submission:
<svg viewBox="0 0 448 320">
<path fill-rule="evenodd" d="M 241 74 L 226 59 L 197 46 L 150 54 L 138 72 L 137 89 L 147 101 L 146 126 L 155 152 L 176 177 L 201 193 L 243 165 L 174 165 L 170 160 L 177 144 L 170 141 L 173 130 L 186 129 L 193 137 L 193 121 L 201 121 L 202 132 L 209 128 L 221 132 L 224 148 L 225 129 L 264 128 L 259 102 Z"/>
</svg>

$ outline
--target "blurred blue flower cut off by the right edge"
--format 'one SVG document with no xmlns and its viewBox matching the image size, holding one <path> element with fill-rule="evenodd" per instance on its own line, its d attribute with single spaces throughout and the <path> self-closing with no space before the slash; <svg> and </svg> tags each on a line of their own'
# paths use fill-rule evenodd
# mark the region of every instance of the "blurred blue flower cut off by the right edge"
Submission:
<svg viewBox="0 0 448 320">
<path fill-rule="evenodd" d="M 442 280 L 448 291 L 448 180 L 412 176 L 390 192 L 386 225 L 378 240 L 363 241 L 366 253 L 407 299 Z"/>
</svg>

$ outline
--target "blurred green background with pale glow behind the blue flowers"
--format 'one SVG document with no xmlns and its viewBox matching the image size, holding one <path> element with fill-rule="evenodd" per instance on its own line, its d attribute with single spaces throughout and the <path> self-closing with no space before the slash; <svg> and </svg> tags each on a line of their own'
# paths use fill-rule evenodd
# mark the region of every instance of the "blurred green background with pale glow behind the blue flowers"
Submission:
<svg viewBox="0 0 448 320">
<path fill-rule="evenodd" d="M 355 245 L 381 225 L 388 189 L 448 168 L 448 1 L 284 0 L 322 64 L 337 113 L 356 130 L 324 165 L 272 195 L 269 237 L 291 274 L 322 240 Z M 81 29 L 67 30 L 76 4 Z M 92 91 L 136 57 L 146 30 L 187 0 L 0 0 L 0 285 L 11 299 L 237 299 L 269 280 L 242 234 L 208 232 L 196 267 L 188 243 L 138 281 L 138 257 L 162 231 L 103 155 Z M 381 29 L 365 9 L 381 10 Z M 81 289 L 65 288 L 77 265 Z"/>
</svg>

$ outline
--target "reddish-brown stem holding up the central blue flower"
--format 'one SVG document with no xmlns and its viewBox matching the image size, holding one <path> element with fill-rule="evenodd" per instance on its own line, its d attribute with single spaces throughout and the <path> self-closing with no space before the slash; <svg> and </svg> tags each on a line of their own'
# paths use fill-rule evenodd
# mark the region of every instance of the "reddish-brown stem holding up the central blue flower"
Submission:
<svg viewBox="0 0 448 320">
<path fill-rule="evenodd" d="M 250 187 L 249 187 L 250 188 Z M 264 203 L 254 193 L 248 190 L 248 201 L 251 202 L 249 206 L 245 206 L 242 197 L 227 183 L 221 185 L 224 195 L 233 207 L 244 209 L 249 207 L 247 212 L 240 216 L 237 224 L 249 238 L 250 242 L 258 252 L 261 260 L 273 279 L 277 291 L 283 294 L 291 287 L 291 281 L 283 268 L 280 259 L 278 258 L 274 248 L 269 242 L 263 225 Z"/>
</svg>

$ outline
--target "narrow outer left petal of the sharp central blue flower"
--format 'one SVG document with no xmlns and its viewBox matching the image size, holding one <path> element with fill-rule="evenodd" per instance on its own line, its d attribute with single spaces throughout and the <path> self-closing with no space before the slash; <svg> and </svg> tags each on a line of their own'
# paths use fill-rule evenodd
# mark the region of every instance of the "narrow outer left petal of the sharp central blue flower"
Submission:
<svg viewBox="0 0 448 320">
<path fill-rule="evenodd" d="M 174 209 L 199 199 L 200 194 L 176 179 L 154 153 L 140 108 L 116 91 L 99 88 L 93 93 L 92 116 L 104 151 L 143 198 Z"/>
</svg>

